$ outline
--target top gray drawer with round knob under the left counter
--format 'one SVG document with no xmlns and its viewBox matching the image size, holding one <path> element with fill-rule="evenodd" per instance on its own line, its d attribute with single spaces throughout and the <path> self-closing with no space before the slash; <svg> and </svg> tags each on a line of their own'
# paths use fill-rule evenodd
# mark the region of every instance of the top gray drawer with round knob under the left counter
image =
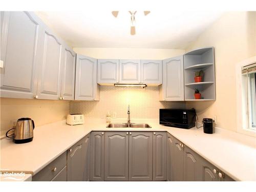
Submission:
<svg viewBox="0 0 256 192">
<path fill-rule="evenodd" d="M 40 170 L 35 176 L 33 176 L 33 181 L 51 181 L 59 172 L 67 165 L 67 152 L 64 152 L 55 160 L 53 160 L 44 169 Z M 54 171 L 54 168 L 56 170 Z"/>
</svg>

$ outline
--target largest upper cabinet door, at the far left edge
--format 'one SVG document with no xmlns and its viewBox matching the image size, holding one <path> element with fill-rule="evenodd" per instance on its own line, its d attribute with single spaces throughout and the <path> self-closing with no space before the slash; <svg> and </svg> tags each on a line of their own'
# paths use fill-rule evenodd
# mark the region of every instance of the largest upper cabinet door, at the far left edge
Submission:
<svg viewBox="0 0 256 192">
<path fill-rule="evenodd" d="M 34 98 L 42 46 L 41 20 L 31 12 L 1 12 L 1 97 Z"/>
</svg>

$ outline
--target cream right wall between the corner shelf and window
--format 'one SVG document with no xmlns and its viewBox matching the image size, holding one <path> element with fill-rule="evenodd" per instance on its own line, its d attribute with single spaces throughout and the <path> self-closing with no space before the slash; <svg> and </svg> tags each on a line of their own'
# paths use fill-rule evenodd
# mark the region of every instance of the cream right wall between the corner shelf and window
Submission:
<svg viewBox="0 0 256 192">
<path fill-rule="evenodd" d="M 218 127 L 237 130 L 236 63 L 256 55 L 255 12 L 228 12 L 207 28 L 186 51 L 215 47 L 216 101 L 188 102 L 199 121 L 217 115 Z"/>
</svg>

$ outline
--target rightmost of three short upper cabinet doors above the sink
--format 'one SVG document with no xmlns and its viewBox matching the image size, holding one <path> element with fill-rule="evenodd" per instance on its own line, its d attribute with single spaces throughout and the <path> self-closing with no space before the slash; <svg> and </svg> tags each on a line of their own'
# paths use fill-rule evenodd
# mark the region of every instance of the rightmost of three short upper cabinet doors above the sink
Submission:
<svg viewBox="0 0 256 192">
<path fill-rule="evenodd" d="M 162 60 L 141 60 L 141 83 L 162 84 Z"/>
</svg>

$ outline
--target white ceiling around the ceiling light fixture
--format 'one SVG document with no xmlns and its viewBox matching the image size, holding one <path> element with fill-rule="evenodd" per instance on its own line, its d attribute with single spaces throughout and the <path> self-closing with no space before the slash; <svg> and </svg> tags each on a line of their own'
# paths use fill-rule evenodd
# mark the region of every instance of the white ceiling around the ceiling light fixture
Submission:
<svg viewBox="0 0 256 192">
<path fill-rule="evenodd" d="M 116 10 L 117 18 L 111 14 Z M 137 10 L 133 36 L 129 10 Z M 144 16 L 147 10 L 151 13 Z M 95 1 L 84 9 L 36 14 L 72 47 L 185 49 L 223 13 L 202 10 L 175 9 L 164 4 L 98 6 Z"/>
</svg>

